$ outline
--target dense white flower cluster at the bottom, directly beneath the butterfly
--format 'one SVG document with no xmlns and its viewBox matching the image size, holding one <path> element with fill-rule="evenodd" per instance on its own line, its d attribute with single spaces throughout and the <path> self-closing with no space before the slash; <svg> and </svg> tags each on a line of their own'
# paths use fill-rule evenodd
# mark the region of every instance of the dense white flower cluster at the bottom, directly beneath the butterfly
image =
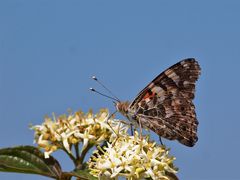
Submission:
<svg viewBox="0 0 240 180">
<path fill-rule="evenodd" d="M 99 179 L 171 179 L 177 173 L 174 157 L 164 146 L 158 146 L 149 138 L 121 136 L 107 147 L 99 147 L 88 162 L 90 173 Z M 175 175 L 174 175 L 175 176 Z"/>
</svg>

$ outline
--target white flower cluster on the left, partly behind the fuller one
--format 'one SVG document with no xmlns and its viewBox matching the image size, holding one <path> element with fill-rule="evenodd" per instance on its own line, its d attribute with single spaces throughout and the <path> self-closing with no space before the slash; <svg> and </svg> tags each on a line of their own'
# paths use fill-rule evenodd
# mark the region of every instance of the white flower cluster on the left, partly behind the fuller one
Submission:
<svg viewBox="0 0 240 180">
<path fill-rule="evenodd" d="M 107 109 L 101 109 L 96 115 L 92 111 L 84 114 L 78 111 L 70 115 L 45 118 L 41 125 L 31 127 L 35 130 L 35 142 L 44 148 L 45 158 L 63 149 L 72 154 L 72 146 L 82 143 L 82 151 L 103 141 L 111 142 L 117 134 L 126 134 L 128 126 L 109 117 Z"/>
</svg>

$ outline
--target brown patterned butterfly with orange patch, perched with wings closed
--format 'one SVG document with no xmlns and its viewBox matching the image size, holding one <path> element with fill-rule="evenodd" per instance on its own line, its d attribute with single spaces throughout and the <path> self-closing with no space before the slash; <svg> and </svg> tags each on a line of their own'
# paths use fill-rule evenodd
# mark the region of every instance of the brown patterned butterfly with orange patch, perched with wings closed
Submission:
<svg viewBox="0 0 240 180">
<path fill-rule="evenodd" d="M 194 58 L 184 59 L 159 74 L 131 103 L 117 102 L 116 109 L 134 125 L 192 147 L 198 140 L 193 99 L 200 72 Z"/>
</svg>

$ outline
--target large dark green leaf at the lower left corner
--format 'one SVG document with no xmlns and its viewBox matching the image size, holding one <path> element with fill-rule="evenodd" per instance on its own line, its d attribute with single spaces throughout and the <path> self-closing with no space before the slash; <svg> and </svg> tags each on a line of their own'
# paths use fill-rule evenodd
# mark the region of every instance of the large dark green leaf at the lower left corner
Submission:
<svg viewBox="0 0 240 180">
<path fill-rule="evenodd" d="M 33 146 L 17 146 L 0 149 L 0 171 L 39 174 L 60 179 L 61 166 L 58 161 L 44 154 Z"/>
</svg>

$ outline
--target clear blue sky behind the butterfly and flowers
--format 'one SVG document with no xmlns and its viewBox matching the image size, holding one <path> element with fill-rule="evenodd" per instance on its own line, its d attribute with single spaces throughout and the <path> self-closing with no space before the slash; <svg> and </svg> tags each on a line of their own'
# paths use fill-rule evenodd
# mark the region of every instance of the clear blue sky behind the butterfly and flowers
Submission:
<svg viewBox="0 0 240 180">
<path fill-rule="evenodd" d="M 28 124 L 52 112 L 113 111 L 111 101 L 89 92 L 100 89 L 92 75 L 132 100 L 167 67 L 195 57 L 199 141 L 193 148 L 164 143 L 180 179 L 240 179 L 239 8 L 237 0 L 0 1 L 0 147 L 31 145 Z M 47 179 L 0 173 L 16 178 Z"/>
</svg>

